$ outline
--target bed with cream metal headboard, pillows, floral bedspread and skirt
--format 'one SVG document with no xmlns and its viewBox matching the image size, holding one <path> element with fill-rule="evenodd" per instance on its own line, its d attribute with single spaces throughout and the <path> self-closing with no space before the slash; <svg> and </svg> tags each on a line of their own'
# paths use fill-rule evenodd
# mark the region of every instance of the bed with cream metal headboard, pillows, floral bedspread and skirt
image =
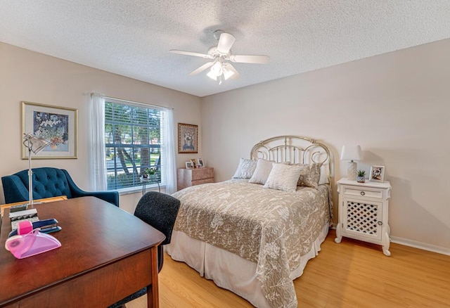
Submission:
<svg viewBox="0 0 450 308">
<path fill-rule="evenodd" d="M 293 280 L 331 224 L 332 172 L 319 141 L 260 141 L 232 179 L 174 193 L 181 207 L 166 251 L 255 307 L 297 307 Z"/>
</svg>

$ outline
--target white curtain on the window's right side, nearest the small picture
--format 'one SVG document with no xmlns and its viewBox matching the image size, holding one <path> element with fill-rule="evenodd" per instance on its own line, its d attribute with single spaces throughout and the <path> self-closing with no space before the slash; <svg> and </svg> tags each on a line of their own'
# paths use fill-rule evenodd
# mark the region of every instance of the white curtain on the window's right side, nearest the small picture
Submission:
<svg viewBox="0 0 450 308">
<path fill-rule="evenodd" d="M 175 163 L 175 134 L 174 134 L 174 112 L 172 109 L 166 109 L 162 118 L 162 129 L 165 140 L 162 140 L 161 146 L 164 148 L 161 164 L 165 166 L 166 193 L 171 195 L 176 192 L 176 163 Z"/>
</svg>

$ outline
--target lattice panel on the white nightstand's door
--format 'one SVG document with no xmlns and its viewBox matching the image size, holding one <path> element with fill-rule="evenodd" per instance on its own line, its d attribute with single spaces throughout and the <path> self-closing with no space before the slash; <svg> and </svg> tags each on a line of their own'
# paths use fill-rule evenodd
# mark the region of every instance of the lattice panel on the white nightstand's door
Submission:
<svg viewBox="0 0 450 308">
<path fill-rule="evenodd" d="M 377 236 L 378 212 L 378 205 L 348 200 L 345 229 Z"/>
</svg>

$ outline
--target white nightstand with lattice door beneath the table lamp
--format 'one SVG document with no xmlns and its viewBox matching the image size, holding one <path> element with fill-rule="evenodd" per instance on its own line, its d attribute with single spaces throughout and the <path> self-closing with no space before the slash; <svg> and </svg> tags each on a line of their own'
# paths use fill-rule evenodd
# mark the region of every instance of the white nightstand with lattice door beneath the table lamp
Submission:
<svg viewBox="0 0 450 308">
<path fill-rule="evenodd" d="M 358 183 L 348 179 L 338 181 L 339 222 L 335 242 L 342 236 L 364 240 L 383 246 L 383 253 L 390 256 L 390 227 L 387 222 L 391 185 L 383 183 Z"/>
</svg>

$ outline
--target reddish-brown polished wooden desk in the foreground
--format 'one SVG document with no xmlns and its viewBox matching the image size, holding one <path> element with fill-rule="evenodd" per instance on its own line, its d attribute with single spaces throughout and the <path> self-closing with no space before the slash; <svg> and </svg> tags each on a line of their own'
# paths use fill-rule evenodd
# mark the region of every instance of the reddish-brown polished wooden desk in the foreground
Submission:
<svg viewBox="0 0 450 308">
<path fill-rule="evenodd" d="M 108 307 L 148 286 L 148 307 L 159 307 L 157 246 L 164 234 L 94 197 L 34 205 L 39 219 L 55 218 L 62 246 L 15 259 L 5 210 L 0 235 L 0 307 Z"/>
</svg>

